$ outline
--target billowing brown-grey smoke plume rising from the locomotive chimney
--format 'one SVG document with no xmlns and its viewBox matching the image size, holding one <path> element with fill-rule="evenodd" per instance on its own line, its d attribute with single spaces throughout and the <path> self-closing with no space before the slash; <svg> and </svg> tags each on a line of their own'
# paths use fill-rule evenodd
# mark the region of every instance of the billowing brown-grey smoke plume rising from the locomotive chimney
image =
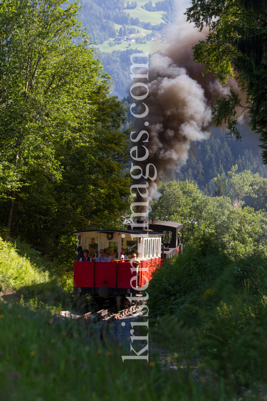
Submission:
<svg viewBox="0 0 267 401">
<path fill-rule="evenodd" d="M 204 66 L 193 60 L 192 46 L 204 39 L 205 33 L 188 25 L 172 32 L 173 42 L 165 50 L 151 56 L 148 82 L 146 79 L 135 80 L 143 82 L 149 88 L 147 98 L 137 102 L 140 105 L 144 102 L 149 107 L 149 114 L 145 118 L 135 118 L 134 121 L 134 135 L 137 136 L 141 130 L 149 133 L 148 142 L 141 142 L 147 138 L 146 134 L 139 141 L 138 157 L 144 155 L 142 145 L 149 150 L 149 156 L 143 162 L 135 161 L 134 165 L 145 171 L 146 165 L 152 163 L 157 169 L 157 179 L 134 179 L 133 184 L 145 184 L 147 181 L 149 199 L 155 195 L 160 179 L 172 177 L 173 171 L 178 171 L 186 163 L 191 142 L 207 140 L 211 136 L 213 98 L 225 96 L 229 92 L 229 87 L 222 87 L 214 74 L 209 73 L 203 77 Z M 147 70 L 143 70 L 143 73 L 146 72 Z M 232 80 L 230 87 L 233 86 L 237 88 Z M 144 88 L 133 89 L 135 96 L 145 93 Z M 144 106 L 141 106 L 143 112 Z M 149 123 L 147 127 L 144 126 L 145 121 Z M 150 172 L 150 176 L 153 176 L 154 169 L 150 168 Z M 139 170 L 132 173 L 137 175 Z M 140 192 L 144 194 L 145 189 Z M 137 192 L 135 201 L 145 200 Z M 146 212 L 147 208 L 138 206 L 135 211 Z"/>
</svg>

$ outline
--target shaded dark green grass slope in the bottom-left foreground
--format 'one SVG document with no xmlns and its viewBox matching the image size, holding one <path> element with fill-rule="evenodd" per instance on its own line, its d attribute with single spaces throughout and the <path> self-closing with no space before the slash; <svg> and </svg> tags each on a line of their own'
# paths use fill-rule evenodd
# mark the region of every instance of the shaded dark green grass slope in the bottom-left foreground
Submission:
<svg viewBox="0 0 267 401">
<path fill-rule="evenodd" d="M 122 362 L 121 356 L 129 351 L 106 349 L 99 341 L 93 346 L 87 339 L 87 328 L 72 320 L 51 324 L 47 312 L 0 305 L 3 400 L 238 400 L 237 391 L 229 384 L 226 388 L 219 378 L 196 378 L 189 363 L 183 369 L 169 369 L 158 362 L 151 347 L 149 363 Z M 246 399 L 252 400 L 249 396 Z"/>
</svg>

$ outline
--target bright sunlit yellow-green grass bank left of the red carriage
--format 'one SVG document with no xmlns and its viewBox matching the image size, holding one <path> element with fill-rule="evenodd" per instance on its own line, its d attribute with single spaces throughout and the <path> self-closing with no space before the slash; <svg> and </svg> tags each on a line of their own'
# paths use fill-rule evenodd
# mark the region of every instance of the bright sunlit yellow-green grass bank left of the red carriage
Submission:
<svg viewBox="0 0 267 401">
<path fill-rule="evenodd" d="M 72 290 L 72 274 L 55 268 L 27 244 L 13 244 L 0 238 L 0 286 L 12 290 L 15 298 L 37 299 L 52 306 L 66 306 Z M 12 295 L 3 299 L 14 298 Z"/>
</svg>

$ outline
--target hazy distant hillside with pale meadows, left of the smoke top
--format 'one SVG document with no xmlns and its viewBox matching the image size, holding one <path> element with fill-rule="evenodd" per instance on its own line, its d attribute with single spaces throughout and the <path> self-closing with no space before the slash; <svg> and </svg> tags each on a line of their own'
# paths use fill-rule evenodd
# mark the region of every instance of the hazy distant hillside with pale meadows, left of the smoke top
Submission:
<svg viewBox="0 0 267 401">
<path fill-rule="evenodd" d="M 163 27 L 174 23 L 175 1 L 81 0 L 78 18 L 95 41 L 105 71 L 113 78 L 113 94 L 128 95 L 129 56 L 134 49 L 153 53 L 165 41 Z M 127 41 L 131 38 L 134 42 Z M 153 40 L 152 40 L 153 39 Z"/>
</svg>

